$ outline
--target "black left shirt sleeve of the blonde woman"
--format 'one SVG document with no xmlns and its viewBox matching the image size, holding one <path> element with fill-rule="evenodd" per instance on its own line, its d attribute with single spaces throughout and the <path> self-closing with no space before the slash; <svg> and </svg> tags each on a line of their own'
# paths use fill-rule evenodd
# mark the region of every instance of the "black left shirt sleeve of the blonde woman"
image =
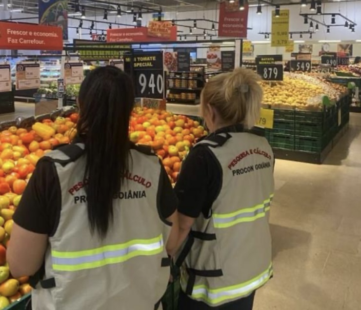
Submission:
<svg viewBox="0 0 361 310">
<path fill-rule="evenodd" d="M 206 146 L 193 148 L 180 169 L 175 192 L 178 211 L 197 218 L 208 216 L 221 187 L 221 167 Z"/>
</svg>

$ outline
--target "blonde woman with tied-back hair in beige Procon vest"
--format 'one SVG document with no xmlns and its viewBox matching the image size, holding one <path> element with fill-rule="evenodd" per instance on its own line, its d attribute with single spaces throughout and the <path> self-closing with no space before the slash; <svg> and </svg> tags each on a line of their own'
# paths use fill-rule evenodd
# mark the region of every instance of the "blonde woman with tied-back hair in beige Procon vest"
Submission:
<svg viewBox="0 0 361 310">
<path fill-rule="evenodd" d="M 210 134 L 182 165 L 177 265 L 180 310 L 251 310 L 272 276 L 268 211 L 274 156 L 262 130 L 259 77 L 238 68 L 212 78 L 201 93 Z M 258 132 L 259 131 L 259 132 Z"/>
</svg>

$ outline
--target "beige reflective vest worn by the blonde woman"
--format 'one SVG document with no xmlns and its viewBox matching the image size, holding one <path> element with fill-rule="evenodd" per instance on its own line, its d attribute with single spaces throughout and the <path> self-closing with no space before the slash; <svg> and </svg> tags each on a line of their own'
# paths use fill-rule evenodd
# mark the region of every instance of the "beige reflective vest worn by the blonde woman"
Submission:
<svg viewBox="0 0 361 310">
<path fill-rule="evenodd" d="M 177 259 L 190 298 L 217 307 L 250 295 L 272 276 L 268 211 L 274 156 L 264 137 L 250 132 L 210 135 L 207 147 L 222 171 L 209 214 L 201 214 Z"/>
</svg>

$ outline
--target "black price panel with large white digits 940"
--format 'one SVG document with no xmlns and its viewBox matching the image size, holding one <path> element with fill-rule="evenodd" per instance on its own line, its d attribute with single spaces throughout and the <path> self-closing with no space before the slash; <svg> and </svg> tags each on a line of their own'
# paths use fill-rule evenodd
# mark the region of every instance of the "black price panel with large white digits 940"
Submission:
<svg viewBox="0 0 361 310">
<path fill-rule="evenodd" d="M 136 72 L 136 96 L 142 98 L 164 98 L 164 77 L 162 70 Z"/>
</svg>

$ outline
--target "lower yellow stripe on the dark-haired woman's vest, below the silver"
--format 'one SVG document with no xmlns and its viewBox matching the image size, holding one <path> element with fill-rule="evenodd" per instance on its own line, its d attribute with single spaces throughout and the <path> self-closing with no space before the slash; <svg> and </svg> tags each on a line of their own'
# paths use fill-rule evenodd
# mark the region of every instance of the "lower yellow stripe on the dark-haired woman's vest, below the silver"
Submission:
<svg viewBox="0 0 361 310">
<path fill-rule="evenodd" d="M 151 251 L 138 250 L 138 251 L 133 251 L 124 256 L 114 257 L 114 258 L 104 258 L 100 261 L 96 261 L 93 263 L 83 263 L 83 264 L 78 264 L 78 265 L 56 265 L 55 264 L 55 265 L 53 265 L 53 269 L 60 270 L 60 271 L 78 271 L 78 270 L 82 270 L 82 269 L 93 269 L 93 268 L 98 268 L 98 267 L 102 267 L 105 265 L 122 263 L 135 256 L 156 255 L 156 254 L 161 253 L 162 251 L 163 251 L 163 247 L 155 249 L 155 250 L 151 250 Z"/>
</svg>

